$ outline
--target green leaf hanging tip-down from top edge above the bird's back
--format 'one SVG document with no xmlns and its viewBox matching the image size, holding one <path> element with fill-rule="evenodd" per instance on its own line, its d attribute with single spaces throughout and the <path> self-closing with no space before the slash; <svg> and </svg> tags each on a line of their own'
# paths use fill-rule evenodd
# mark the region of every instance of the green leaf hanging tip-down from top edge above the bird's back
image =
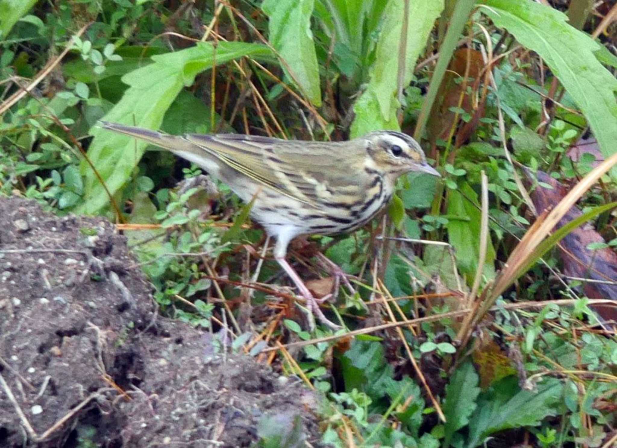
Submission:
<svg viewBox="0 0 617 448">
<path fill-rule="evenodd" d="M 315 106 L 321 106 L 319 65 L 310 30 L 314 4 L 314 0 L 265 0 L 262 10 L 270 17 L 269 40 L 284 60 L 283 70 Z"/>
</svg>

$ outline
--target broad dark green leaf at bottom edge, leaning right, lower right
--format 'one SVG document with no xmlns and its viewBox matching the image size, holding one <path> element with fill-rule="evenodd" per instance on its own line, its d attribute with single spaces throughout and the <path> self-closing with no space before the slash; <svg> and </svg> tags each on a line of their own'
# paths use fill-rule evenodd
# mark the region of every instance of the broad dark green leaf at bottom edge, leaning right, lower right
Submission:
<svg viewBox="0 0 617 448">
<path fill-rule="evenodd" d="M 508 376 L 482 394 L 470 419 L 468 448 L 482 444 L 491 434 L 521 426 L 539 426 L 542 419 L 557 415 L 563 384 L 545 378 L 534 391 L 523 391 L 518 379 Z"/>
</svg>

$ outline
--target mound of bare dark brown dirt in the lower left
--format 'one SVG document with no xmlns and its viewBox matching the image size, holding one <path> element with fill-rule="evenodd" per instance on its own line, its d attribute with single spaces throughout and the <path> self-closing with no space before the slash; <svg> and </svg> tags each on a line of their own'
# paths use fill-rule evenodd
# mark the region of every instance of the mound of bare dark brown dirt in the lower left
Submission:
<svg viewBox="0 0 617 448">
<path fill-rule="evenodd" d="M 114 225 L 0 198 L 0 447 L 248 447 L 317 397 L 157 316 Z"/>
</svg>

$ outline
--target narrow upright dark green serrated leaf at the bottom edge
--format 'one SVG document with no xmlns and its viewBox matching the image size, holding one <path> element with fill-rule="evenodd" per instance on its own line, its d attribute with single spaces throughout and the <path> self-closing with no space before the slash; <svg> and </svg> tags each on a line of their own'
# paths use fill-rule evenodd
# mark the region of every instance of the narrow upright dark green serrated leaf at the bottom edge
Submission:
<svg viewBox="0 0 617 448">
<path fill-rule="evenodd" d="M 450 383 L 445 387 L 444 446 L 449 446 L 452 435 L 469 423 L 471 413 L 476 410 L 476 399 L 480 393 L 479 376 L 473 363 L 466 362 L 450 376 Z"/>
</svg>

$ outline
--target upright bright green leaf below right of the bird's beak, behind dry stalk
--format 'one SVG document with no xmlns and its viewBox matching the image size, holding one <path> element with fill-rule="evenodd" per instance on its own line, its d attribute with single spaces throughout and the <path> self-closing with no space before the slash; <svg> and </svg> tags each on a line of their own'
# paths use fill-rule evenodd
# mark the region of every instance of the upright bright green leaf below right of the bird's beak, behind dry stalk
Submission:
<svg viewBox="0 0 617 448">
<path fill-rule="evenodd" d="M 472 201 L 472 202 L 470 202 Z M 448 220 L 448 240 L 455 249 L 457 265 L 462 273 L 475 275 L 480 256 L 480 221 L 481 213 L 478 204 L 478 194 L 468 183 L 463 183 L 459 189 L 450 190 L 448 194 L 448 215 L 468 219 Z M 483 272 L 489 279 L 495 276 L 495 249 L 488 240 L 486 262 Z"/>
</svg>

